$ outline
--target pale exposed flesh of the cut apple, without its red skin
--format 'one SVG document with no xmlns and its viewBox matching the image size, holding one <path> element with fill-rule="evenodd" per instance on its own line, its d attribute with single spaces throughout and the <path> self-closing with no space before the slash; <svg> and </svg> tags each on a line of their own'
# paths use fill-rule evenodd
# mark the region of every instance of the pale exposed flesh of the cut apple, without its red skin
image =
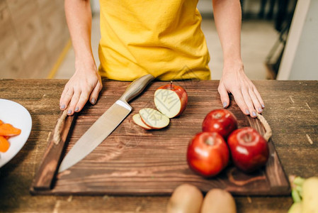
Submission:
<svg viewBox="0 0 318 213">
<path fill-rule="evenodd" d="M 180 97 L 171 89 L 157 89 L 154 92 L 154 104 L 162 114 L 170 119 L 182 112 Z"/>
</svg>

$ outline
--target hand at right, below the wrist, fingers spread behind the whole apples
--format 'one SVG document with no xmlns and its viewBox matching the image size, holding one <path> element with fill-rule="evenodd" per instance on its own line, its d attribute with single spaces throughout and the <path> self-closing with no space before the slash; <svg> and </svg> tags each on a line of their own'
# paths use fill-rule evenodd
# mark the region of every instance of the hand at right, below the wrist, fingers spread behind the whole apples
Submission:
<svg viewBox="0 0 318 213">
<path fill-rule="evenodd" d="M 256 117 L 256 111 L 263 111 L 264 102 L 255 85 L 246 77 L 244 68 L 239 65 L 225 65 L 222 79 L 217 90 L 220 93 L 223 107 L 229 106 L 229 94 L 232 93 L 237 105 L 246 115 Z"/>
</svg>

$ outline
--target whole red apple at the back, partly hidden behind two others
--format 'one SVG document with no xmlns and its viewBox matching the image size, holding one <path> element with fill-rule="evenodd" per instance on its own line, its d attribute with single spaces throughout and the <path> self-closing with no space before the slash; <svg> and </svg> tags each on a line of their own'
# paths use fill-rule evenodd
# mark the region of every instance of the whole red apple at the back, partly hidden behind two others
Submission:
<svg viewBox="0 0 318 213">
<path fill-rule="evenodd" d="M 210 111 L 203 120 L 202 131 L 217 132 L 224 138 L 237 129 L 237 118 L 227 109 Z"/>
</svg>

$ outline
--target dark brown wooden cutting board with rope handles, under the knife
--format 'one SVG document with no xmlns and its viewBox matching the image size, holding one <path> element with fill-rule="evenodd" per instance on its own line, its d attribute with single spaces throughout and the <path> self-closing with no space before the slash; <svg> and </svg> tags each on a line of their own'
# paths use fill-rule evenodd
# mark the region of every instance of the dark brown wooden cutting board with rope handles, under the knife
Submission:
<svg viewBox="0 0 318 213">
<path fill-rule="evenodd" d="M 234 195 L 290 195 L 288 179 L 271 140 L 268 163 L 256 173 L 246 175 L 229 165 L 215 178 L 202 178 L 188 168 L 188 142 L 195 133 L 201 131 L 205 115 L 212 109 L 222 107 L 217 82 L 212 81 L 175 82 L 188 92 L 186 110 L 178 118 L 171 119 L 165 129 L 146 131 L 133 123 L 132 115 L 144 107 L 155 109 L 154 91 L 166 82 L 152 82 L 140 97 L 130 102 L 132 112 L 103 143 L 84 160 L 57 174 L 57 165 L 64 154 L 123 94 L 129 84 L 130 82 L 107 82 L 95 106 L 86 104 L 77 116 L 67 117 L 59 143 L 51 140 L 47 146 L 42 165 L 30 188 L 31 193 L 169 195 L 178 185 L 188 183 L 203 192 L 219 187 Z M 242 114 L 232 97 L 228 109 L 237 116 L 239 128 L 252 126 L 264 133 L 259 120 Z"/>
</svg>

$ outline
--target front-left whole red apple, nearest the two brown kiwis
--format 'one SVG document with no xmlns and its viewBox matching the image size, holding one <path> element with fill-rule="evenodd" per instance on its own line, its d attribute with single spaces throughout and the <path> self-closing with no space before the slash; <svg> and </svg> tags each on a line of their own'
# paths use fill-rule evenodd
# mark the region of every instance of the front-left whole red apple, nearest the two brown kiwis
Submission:
<svg viewBox="0 0 318 213">
<path fill-rule="evenodd" d="M 227 143 L 219 133 L 197 133 L 188 144 L 187 160 L 196 173 L 213 177 L 229 163 Z"/>
</svg>

